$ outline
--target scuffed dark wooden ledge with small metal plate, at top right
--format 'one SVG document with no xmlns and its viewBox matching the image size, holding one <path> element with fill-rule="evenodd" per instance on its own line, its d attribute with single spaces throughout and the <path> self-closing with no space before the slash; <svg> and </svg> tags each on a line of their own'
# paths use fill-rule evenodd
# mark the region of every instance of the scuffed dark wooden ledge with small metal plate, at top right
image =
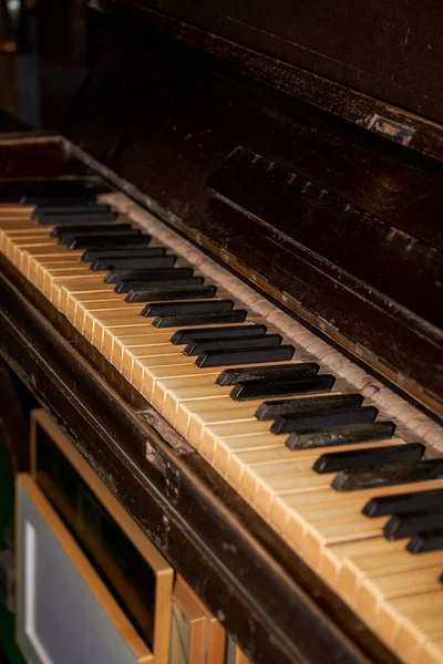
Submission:
<svg viewBox="0 0 443 664">
<path fill-rule="evenodd" d="M 395 105 L 388 92 L 389 103 L 387 104 L 387 101 L 381 97 L 339 83 L 340 76 L 333 79 L 320 76 L 310 69 L 292 64 L 287 58 L 276 58 L 272 54 L 272 48 L 269 51 L 266 51 L 265 46 L 254 50 L 238 43 L 235 37 L 230 38 L 234 41 L 225 37 L 218 37 L 218 34 L 229 34 L 229 31 L 224 31 L 223 27 L 219 27 L 217 34 L 206 32 L 190 23 L 184 23 L 168 14 L 157 12 L 147 7 L 146 3 L 137 0 L 102 0 L 101 7 L 106 11 L 116 13 L 119 20 L 125 15 L 135 14 L 138 24 L 142 22 L 142 24 L 148 25 L 150 31 L 155 29 L 162 33 L 175 34 L 177 41 L 190 48 L 199 60 L 222 60 L 241 76 L 250 76 L 261 84 L 290 96 L 296 96 L 317 108 L 351 122 L 369 132 L 377 133 L 383 136 L 384 139 L 394 139 L 419 153 L 443 160 L 442 124 L 429 120 L 425 115 L 418 115 Z M 205 7 L 198 6 L 199 17 L 205 14 Z M 197 6 L 194 7 L 194 9 L 196 8 Z M 309 6 L 309 11 L 311 11 L 311 8 L 312 3 Z M 181 3 L 181 9 L 184 11 L 184 3 Z M 295 8 L 295 11 L 297 11 L 297 8 Z M 316 6 L 313 6 L 312 11 L 316 11 Z M 251 20 L 254 20 L 254 11 L 251 11 Z M 193 23 L 198 24 L 198 20 L 193 21 Z M 250 27 L 237 25 L 243 28 L 244 32 Z M 336 37 L 338 33 L 339 30 Z M 150 38 L 152 38 L 152 34 Z M 100 44 L 102 41 L 101 33 L 99 32 L 92 41 L 94 44 Z M 95 49 L 96 52 L 99 50 Z M 315 59 L 316 53 L 308 52 L 309 58 Z M 440 50 L 436 49 L 436 53 L 434 52 L 433 55 L 434 61 L 439 62 L 439 56 Z M 374 51 L 373 62 L 378 64 L 382 58 L 383 53 Z M 434 83 L 439 85 L 440 79 L 437 77 Z M 427 92 L 432 94 L 433 89 L 430 87 Z"/>
</svg>

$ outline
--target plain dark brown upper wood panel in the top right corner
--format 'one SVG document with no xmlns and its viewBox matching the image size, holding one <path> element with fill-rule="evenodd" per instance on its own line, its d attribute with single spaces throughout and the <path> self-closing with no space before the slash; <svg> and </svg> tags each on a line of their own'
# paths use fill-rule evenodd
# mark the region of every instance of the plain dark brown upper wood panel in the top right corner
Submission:
<svg viewBox="0 0 443 664">
<path fill-rule="evenodd" d="M 440 0 L 140 0 L 184 21 L 443 121 Z"/>
</svg>

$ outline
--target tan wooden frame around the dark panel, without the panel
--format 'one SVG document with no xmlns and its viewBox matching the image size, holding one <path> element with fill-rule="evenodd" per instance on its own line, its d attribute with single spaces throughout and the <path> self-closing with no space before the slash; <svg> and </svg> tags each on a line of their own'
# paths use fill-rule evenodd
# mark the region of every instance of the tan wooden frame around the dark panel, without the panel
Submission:
<svg viewBox="0 0 443 664">
<path fill-rule="evenodd" d="M 31 412 L 31 474 L 37 477 L 37 425 L 39 425 L 56 445 L 60 452 L 85 481 L 103 507 L 112 515 L 121 530 L 131 540 L 135 549 L 153 570 L 156 578 L 154 609 L 154 656 L 156 664 L 167 664 L 171 632 L 171 596 L 174 570 L 158 552 L 142 529 L 130 517 L 119 500 L 94 473 L 87 461 L 75 449 L 70 439 L 61 432 L 55 422 L 41 408 Z"/>
</svg>

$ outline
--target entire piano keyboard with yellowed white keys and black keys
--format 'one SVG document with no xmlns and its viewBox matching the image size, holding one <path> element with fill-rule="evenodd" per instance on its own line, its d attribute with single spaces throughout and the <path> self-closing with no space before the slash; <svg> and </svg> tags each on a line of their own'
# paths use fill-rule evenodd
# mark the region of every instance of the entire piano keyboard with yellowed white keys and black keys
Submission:
<svg viewBox="0 0 443 664">
<path fill-rule="evenodd" d="M 402 661 L 442 664 L 435 423 L 123 196 L 3 205 L 0 229 L 16 268 Z"/>
</svg>

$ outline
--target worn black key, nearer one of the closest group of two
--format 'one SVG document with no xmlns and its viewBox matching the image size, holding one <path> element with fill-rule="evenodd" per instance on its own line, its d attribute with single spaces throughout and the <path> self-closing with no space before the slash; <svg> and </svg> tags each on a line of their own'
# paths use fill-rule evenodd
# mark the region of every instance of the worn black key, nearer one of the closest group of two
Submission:
<svg viewBox="0 0 443 664">
<path fill-rule="evenodd" d="M 443 459 L 424 459 L 415 464 L 387 464 L 379 468 L 341 470 L 333 478 L 331 486 L 337 491 L 357 491 L 432 479 L 443 479 Z"/>
</svg>

